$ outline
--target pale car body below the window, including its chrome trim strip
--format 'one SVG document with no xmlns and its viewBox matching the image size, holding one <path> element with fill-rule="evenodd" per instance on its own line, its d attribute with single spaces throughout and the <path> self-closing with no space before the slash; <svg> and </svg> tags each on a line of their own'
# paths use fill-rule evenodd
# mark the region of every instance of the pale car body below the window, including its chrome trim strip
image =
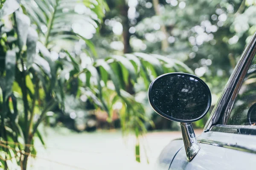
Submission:
<svg viewBox="0 0 256 170">
<path fill-rule="evenodd" d="M 186 152 L 182 147 L 169 170 L 245 170 L 255 167 L 256 137 L 251 135 L 206 132 L 199 138 L 201 147 L 192 161 L 186 160 Z M 183 142 L 183 141 L 181 141 Z M 248 146 L 250 149 L 245 149 Z"/>
</svg>

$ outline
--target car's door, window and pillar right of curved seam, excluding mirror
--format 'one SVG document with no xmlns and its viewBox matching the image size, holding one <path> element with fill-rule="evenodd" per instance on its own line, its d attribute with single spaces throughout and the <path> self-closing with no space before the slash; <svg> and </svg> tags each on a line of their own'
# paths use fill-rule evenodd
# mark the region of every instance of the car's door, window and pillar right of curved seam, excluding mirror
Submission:
<svg viewBox="0 0 256 170">
<path fill-rule="evenodd" d="M 256 160 L 256 34 L 239 60 L 212 111 L 201 147 L 188 162 L 182 147 L 169 170 L 255 169 Z"/>
</svg>

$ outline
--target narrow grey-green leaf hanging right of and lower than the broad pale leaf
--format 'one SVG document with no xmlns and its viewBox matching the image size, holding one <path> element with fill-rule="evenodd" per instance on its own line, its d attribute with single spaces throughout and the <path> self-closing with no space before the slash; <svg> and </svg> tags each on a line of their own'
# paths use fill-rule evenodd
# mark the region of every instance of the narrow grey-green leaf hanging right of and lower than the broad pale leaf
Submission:
<svg viewBox="0 0 256 170">
<path fill-rule="evenodd" d="M 26 67 L 29 69 L 35 60 L 36 42 L 38 41 L 38 34 L 34 28 L 29 27 L 29 33 L 26 41 L 27 46 L 27 62 Z"/>
</svg>

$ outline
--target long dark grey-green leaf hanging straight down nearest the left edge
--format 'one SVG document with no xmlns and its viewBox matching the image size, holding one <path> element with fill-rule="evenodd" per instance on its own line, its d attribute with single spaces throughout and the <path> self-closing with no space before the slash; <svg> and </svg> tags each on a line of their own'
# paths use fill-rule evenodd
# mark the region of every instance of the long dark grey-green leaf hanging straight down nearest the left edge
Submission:
<svg viewBox="0 0 256 170">
<path fill-rule="evenodd" d="M 15 51 L 6 52 L 6 90 L 5 90 L 5 101 L 12 94 L 12 85 L 15 80 L 15 65 L 16 65 L 16 53 Z"/>
</svg>

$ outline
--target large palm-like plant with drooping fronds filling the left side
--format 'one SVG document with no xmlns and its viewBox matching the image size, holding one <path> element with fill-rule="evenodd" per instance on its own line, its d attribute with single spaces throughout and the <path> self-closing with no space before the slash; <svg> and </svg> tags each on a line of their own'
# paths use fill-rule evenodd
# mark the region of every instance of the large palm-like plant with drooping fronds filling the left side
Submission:
<svg viewBox="0 0 256 170">
<path fill-rule="evenodd" d="M 139 136 L 150 120 L 134 98 L 134 88 L 144 84 L 147 89 L 154 77 L 166 72 L 192 71 L 182 62 L 153 54 L 93 59 L 97 54 L 89 39 L 108 10 L 102 0 L 6 0 L 0 7 L 0 167 L 26 170 L 36 156 L 35 137 L 44 144 L 38 127 L 49 111 L 65 110 L 65 94 L 87 96 L 108 113 L 109 121 L 113 105 L 121 104 L 122 131 L 136 135 L 140 161 Z M 76 43 L 82 44 L 88 62 L 67 48 Z"/>
</svg>

